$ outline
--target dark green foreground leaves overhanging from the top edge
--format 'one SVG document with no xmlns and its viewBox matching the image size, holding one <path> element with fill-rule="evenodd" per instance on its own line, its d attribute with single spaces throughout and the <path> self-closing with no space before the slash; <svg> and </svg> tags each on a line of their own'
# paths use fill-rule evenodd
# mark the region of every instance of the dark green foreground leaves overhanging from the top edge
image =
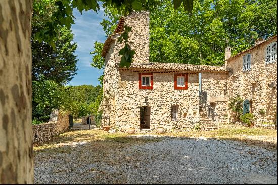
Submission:
<svg viewBox="0 0 278 185">
<path fill-rule="evenodd" d="M 102 0 L 103 8 L 112 7 L 123 15 L 128 15 L 133 11 L 151 10 L 160 4 L 160 0 Z M 173 0 L 174 8 L 177 9 L 181 6 L 183 2 L 184 10 L 189 13 L 193 8 L 193 0 Z M 100 6 L 97 0 L 56 0 L 55 5 L 57 6 L 57 11 L 55 11 L 51 16 L 51 21 L 48 21 L 45 28 L 40 30 L 35 34 L 35 39 L 39 42 L 46 42 L 55 48 L 55 41 L 59 37 L 59 26 L 66 26 L 70 29 L 71 24 L 74 24 L 74 16 L 72 10 L 77 8 L 80 13 L 83 10 L 94 10 L 99 11 Z M 124 42 L 124 47 L 120 50 L 119 55 L 121 55 L 121 66 L 129 67 L 132 63 L 135 51 L 132 50 L 128 42 L 128 32 L 131 31 L 130 27 L 125 27 L 124 33 L 121 35 L 121 39 L 118 42 Z"/>
</svg>

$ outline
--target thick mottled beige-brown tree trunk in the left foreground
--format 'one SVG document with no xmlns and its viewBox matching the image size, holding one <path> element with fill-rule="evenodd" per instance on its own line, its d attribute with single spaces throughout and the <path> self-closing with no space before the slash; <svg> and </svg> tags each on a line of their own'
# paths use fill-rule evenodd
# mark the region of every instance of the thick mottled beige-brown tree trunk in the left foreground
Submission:
<svg viewBox="0 0 278 185">
<path fill-rule="evenodd" d="M 0 184 L 33 183 L 32 0 L 0 0 Z"/>
</svg>

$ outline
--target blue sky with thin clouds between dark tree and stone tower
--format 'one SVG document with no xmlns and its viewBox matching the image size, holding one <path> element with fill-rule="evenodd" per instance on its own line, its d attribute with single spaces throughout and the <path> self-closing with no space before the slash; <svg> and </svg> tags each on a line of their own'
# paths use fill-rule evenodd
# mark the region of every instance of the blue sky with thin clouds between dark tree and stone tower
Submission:
<svg viewBox="0 0 278 185">
<path fill-rule="evenodd" d="M 75 16 L 71 29 L 74 34 L 74 42 L 78 47 L 75 51 L 75 55 L 79 59 L 77 63 L 77 74 L 67 85 L 99 85 L 99 76 L 103 73 L 103 70 L 98 70 L 90 65 L 92 61 L 92 55 L 90 52 L 94 50 L 94 42 L 104 42 L 106 40 L 105 33 L 103 31 L 100 22 L 104 16 L 104 10 L 100 9 L 98 13 L 90 10 L 83 12 L 82 15 L 77 9 L 73 10 Z"/>
</svg>

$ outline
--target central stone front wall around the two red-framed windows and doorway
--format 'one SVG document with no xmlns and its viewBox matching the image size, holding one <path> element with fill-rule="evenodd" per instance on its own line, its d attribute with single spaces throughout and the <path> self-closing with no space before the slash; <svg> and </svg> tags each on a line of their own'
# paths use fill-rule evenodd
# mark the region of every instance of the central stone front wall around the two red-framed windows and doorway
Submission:
<svg viewBox="0 0 278 185">
<path fill-rule="evenodd" d="M 173 73 L 153 73 L 153 89 L 138 88 L 138 72 L 121 72 L 116 104 L 116 124 L 121 131 L 134 127 L 140 132 L 140 107 L 151 109 L 150 129 L 185 130 L 199 123 L 199 77 L 188 74 L 188 90 L 174 89 Z M 147 104 L 145 103 L 147 97 Z M 178 105 L 178 120 L 171 120 L 171 105 Z"/>
</svg>

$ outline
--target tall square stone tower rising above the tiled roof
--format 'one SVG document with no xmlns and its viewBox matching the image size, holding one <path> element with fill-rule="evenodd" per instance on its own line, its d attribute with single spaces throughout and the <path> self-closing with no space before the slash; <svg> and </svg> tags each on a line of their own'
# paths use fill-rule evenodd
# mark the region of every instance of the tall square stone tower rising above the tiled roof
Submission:
<svg viewBox="0 0 278 185">
<path fill-rule="evenodd" d="M 128 33 L 128 41 L 133 42 L 130 47 L 136 52 L 133 63 L 150 64 L 149 11 L 133 12 L 124 18 L 124 25 L 132 27 Z"/>
</svg>

